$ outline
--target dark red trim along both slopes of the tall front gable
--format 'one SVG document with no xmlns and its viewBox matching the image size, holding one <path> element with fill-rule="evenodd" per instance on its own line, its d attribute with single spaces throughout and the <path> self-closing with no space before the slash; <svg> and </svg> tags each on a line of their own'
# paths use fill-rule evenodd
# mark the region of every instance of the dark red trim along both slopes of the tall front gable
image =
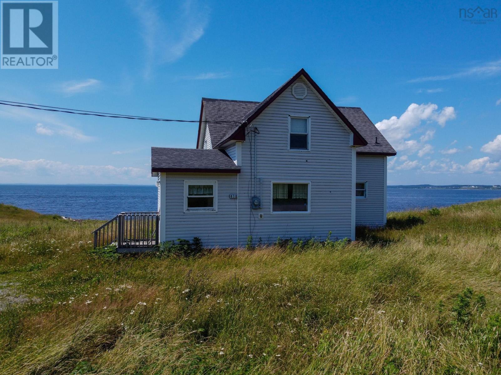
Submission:
<svg viewBox="0 0 501 375">
<path fill-rule="evenodd" d="M 258 117 L 263 110 L 265 110 L 268 105 L 270 105 L 280 94 L 282 94 L 296 79 L 298 79 L 301 75 L 303 75 L 308 82 L 313 86 L 313 88 L 322 96 L 322 98 L 326 101 L 326 103 L 334 110 L 334 112 L 341 118 L 341 121 L 343 121 L 346 126 L 353 132 L 353 144 L 356 146 L 365 146 L 367 145 L 367 141 L 364 139 L 364 137 L 358 132 L 358 130 L 355 128 L 355 126 L 352 125 L 352 123 L 346 118 L 346 116 L 341 112 L 341 110 L 332 102 L 331 99 L 325 94 L 325 92 L 320 88 L 320 86 L 313 80 L 313 78 L 306 72 L 304 68 L 302 68 L 300 71 L 298 71 L 292 78 L 290 78 L 286 83 L 284 83 L 279 89 L 277 89 L 272 95 L 267 97 L 264 101 L 259 103 L 257 107 L 259 107 L 257 110 L 252 110 L 250 111 L 250 114 L 248 117 L 242 119 L 242 124 L 231 133 L 229 137 L 223 138 L 219 143 L 217 143 L 214 148 L 220 146 L 223 143 L 226 143 L 229 140 L 235 139 L 235 135 L 237 134 L 238 130 L 241 128 L 245 128 L 250 122 L 252 122 L 256 117 Z"/>
</svg>

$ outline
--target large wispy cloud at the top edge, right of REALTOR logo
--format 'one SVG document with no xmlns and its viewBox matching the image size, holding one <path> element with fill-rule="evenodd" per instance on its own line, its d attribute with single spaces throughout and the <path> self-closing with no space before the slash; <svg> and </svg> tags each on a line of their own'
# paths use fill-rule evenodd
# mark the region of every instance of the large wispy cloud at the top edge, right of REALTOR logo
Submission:
<svg viewBox="0 0 501 375">
<path fill-rule="evenodd" d="M 209 9 L 196 0 L 184 0 L 177 9 L 162 12 L 160 2 L 129 0 L 141 27 L 145 54 L 143 75 L 151 77 L 157 65 L 175 61 L 202 37 Z M 169 2 L 170 4 L 170 2 Z"/>
</svg>

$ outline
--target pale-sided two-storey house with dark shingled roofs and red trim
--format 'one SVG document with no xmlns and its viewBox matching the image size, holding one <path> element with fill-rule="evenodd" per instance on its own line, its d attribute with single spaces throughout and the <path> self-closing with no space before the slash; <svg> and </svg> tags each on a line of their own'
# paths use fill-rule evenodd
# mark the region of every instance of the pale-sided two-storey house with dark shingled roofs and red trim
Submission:
<svg viewBox="0 0 501 375">
<path fill-rule="evenodd" d="M 386 222 L 395 154 L 360 107 L 336 106 L 301 69 L 261 102 L 202 98 L 196 148 L 152 147 L 158 214 L 141 213 L 143 226 L 154 224 L 152 243 L 206 247 L 354 239 L 356 226 Z M 116 225 L 133 233 L 141 219 L 127 214 Z"/>
</svg>

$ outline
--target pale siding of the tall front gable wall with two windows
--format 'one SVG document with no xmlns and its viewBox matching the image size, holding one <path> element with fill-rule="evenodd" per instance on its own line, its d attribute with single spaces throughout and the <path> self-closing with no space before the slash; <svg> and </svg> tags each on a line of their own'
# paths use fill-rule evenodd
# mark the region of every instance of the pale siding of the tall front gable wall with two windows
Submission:
<svg viewBox="0 0 501 375">
<path fill-rule="evenodd" d="M 289 114 L 311 116 L 310 151 L 288 149 Z M 242 143 L 239 177 L 240 244 L 245 244 L 248 235 L 254 242 L 260 238 L 272 242 L 279 236 L 325 239 L 329 231 L 333 238 L 351 237 L 352 148 L 344 125 L 309 87 L 302 100 L 296 99 L 290 88 L 285 90 L 253 125 L 259 129 L 256 161 L 262 183 L 258 182 L 256 195 L 261 196 L 262 208 L 250 209 L 255 140 L 249 133 Z M 310 213 L 271 213 L 271 182 L 277 180 L 309 181 Z M 264 218 L 259 219 L 259 213 Z"/>
</svg>

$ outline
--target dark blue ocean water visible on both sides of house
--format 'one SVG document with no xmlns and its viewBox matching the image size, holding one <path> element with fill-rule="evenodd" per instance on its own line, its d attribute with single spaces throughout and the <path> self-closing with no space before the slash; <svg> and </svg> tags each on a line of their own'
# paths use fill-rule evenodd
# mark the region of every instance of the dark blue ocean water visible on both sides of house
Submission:
<svg viewBox="0 0 501 375">
<path fill-rule="evenodd" d="M 444 207 L 501 198 L 501 190 L 388 188 L 388 211 Z M 122 211 L 156 211 L 155 185 L 0 184 L 0 203 L 72 218 L 110 219 Z"/>
</svg>

